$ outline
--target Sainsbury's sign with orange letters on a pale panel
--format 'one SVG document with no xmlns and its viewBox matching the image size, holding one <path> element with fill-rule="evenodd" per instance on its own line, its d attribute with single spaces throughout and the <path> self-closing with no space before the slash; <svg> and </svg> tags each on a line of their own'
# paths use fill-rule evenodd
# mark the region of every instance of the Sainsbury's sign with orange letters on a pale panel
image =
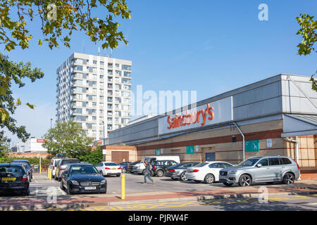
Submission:
<svg viewBox="0 0 317 225">
<path fill-rule="evenodd" d="M 159 119 L 159 134 L 168 134 L 232 120 L 232 96 Z"/>
</svg>

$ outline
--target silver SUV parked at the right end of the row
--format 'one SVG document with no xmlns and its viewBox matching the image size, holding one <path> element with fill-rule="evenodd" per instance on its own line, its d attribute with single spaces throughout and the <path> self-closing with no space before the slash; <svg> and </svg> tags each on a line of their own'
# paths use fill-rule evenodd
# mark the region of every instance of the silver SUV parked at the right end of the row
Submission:
<svg viewBox="0 0 317 225">
<path fill-rule="evenodd" d="M 253 157 L 235 167 L 221 169 L 219 181 L 225 186 L 239 184 L 249 186 L 256 183 L 283 182 L 293 184 L 299 179 L 299 165 L 286 156 Z"/>
</svg>

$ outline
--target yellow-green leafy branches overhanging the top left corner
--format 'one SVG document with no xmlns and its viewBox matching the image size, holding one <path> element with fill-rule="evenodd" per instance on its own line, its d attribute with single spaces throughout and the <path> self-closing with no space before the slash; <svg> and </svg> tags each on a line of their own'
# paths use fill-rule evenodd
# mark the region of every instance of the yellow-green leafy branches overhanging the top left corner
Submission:
<svg viewBox="0 0 317 225">
<path fill-rule="evenodd" d="M 105 11 L 104 18 L 92 17 L 95 9 Z M 35 17 L 41 21 L 43 41 L 49 48 L 58 47 L 58 42 L 70 47 L 70 36 L 74 30 L 85 32 L 93 41 L 103 42 L 102 47 L 118 47 L 118 41 L 125 40 L 118 31 L 116 16 L 130 18 L 125 0 L 0 0 L 0 40 L 6 50 L 15 46 L 25 49 L 33 38 L 28 25 Z M 38 40 L 42 45 L 42 40 Z"/>
</svg>

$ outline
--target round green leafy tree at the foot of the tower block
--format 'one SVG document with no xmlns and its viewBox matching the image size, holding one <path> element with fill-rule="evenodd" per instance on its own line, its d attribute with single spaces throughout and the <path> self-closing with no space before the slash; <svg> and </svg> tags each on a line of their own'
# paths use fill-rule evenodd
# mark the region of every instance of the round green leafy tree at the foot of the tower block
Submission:
<svg viewBox="0 0 317 225">
<path fill-rule="evenodd" d="M 92 139 L 89 139 L 82 127 L 73 121 L 57 122 L 55 127 L 44 134 L 44 139 L 42 146 L 49 153 L 65 153 L 70 158 L 78 158 L 92 146 Z"/>
</svg>

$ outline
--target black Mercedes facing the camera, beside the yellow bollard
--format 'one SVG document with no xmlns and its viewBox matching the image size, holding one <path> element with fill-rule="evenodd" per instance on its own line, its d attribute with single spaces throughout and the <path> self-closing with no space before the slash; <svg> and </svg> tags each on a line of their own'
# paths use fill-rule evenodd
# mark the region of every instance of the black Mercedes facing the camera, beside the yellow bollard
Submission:
<svg viewBox="0 0 317 225">
<path fill-rule="evenodd" d="M 107 181 L 94 165 L 87 163 L 68 164 L 61 174 L 61 189 L 73 193 L 106 193 Z"/>
</svg>

